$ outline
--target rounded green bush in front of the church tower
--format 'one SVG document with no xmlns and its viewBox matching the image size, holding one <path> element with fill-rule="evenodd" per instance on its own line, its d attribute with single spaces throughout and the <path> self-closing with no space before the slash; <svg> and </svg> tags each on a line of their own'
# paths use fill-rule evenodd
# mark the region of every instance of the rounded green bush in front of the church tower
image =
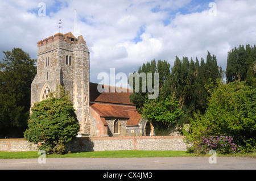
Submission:
<svg viewBox="0 0 256 181">
<path fill-rule="evenodd" d="M 58 87 L 49 99 L 38 102 L 31 108 L 28 129 L 24 133 L 26 140 L 38 144 L 46 153 L 61 154 L 64 145 L 72 141 L 80 130 L 75 109 L 64 87 Z"/>
</svg>

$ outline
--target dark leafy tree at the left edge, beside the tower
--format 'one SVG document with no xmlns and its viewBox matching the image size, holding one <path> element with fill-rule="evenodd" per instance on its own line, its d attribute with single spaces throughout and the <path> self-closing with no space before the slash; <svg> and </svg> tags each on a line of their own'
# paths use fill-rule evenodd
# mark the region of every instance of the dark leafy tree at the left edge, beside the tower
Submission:
<svg viewBox="0 0 256 181">
<path fill-rule="evenodd" d="M 22 137 L 30 113 L 36 60 L 20 48 L 3 52 L 0 62 L 0 137 Z"/>
</svg>

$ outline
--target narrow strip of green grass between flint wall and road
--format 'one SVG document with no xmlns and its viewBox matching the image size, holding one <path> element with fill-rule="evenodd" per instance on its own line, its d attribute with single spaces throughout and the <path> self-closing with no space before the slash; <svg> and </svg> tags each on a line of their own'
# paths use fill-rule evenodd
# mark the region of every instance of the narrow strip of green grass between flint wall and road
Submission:
<svg viewBox="0 0 256 181">
<path fill-rule="evenodd" d="M 0 159 L 22 159 L 38 158 L 38 151 L 5 152 L 0 151 Z M 139 150 L 121 150 L 121 151 L 90 151 L 76 152 L 64 155 L 46 155 L 47 158 L 131 158 L 131 157 L 209 157 L 210 155 L 197 155 L 187 151 L 139 151 Z M 256 157 L 256 153 L 217 155 L 232 157 Z"/>
</svg>

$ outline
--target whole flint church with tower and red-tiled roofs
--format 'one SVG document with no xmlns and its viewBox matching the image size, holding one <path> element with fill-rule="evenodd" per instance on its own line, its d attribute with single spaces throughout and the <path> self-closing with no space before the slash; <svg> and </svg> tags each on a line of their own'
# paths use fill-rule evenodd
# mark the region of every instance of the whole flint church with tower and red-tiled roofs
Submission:
<svg viewBox="0 0 256 181">
<path fill-rule="evenodd" d="M 99 92 L 98 83 L 90 82 L 89 49 L 82 36 L 71 32 L 56 33 L 38 42 L 31 107 L 47 99 L 58 85 L 70 92 L 80 124 L 78 137 L 154 136 L 152 124 L 131 103 L 131 92 Z"/>
</svg>

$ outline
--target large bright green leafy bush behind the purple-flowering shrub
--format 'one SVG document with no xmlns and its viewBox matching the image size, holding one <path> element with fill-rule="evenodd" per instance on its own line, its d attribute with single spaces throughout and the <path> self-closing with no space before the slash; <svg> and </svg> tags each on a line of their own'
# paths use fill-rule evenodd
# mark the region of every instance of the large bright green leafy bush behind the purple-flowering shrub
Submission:
<svg viewBox="0 0 256 181">
<path fill-rule="evenodd" d="M 191 131 L 184 133 L 194 146 L 202 136 L 231 136 L 245 150 L 255 151 L 256 89 L 244 81 L 218 83 L 205 114 L 196 113 L 190 121 Z"/>
</svg>

